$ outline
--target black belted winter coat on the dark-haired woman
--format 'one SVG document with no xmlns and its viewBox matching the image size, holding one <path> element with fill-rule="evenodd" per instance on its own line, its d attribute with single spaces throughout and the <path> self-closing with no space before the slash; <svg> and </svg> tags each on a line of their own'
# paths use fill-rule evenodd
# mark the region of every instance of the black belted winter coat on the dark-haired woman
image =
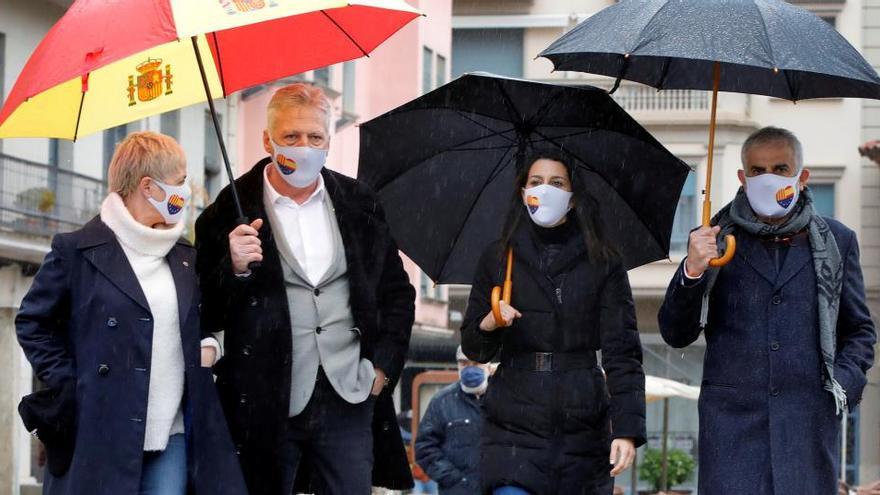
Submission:
<svg viewBox="0 0 880 495">
<path fill-rule="evenodd" d="M 464 353 L 501 366 L 484 399 L 481 478 L 484 492 L 519 485 L 535 495 L 610 494 L 612 438 L 645 443 L 645 375 L 635 308 L 619 263 L 594 263 L 578 229 L 549 247 L 531 222 L 514 233 L 511 327 L 484 332 L 490 294 L 503 279 L 498 243 L 480 260 L 462 327 Z M 557 290 L 558 289 L 558 290 Z M 535 372 L 505 366 L 509 356 L 602 351 L 602 370 Z"/>
</svg>

